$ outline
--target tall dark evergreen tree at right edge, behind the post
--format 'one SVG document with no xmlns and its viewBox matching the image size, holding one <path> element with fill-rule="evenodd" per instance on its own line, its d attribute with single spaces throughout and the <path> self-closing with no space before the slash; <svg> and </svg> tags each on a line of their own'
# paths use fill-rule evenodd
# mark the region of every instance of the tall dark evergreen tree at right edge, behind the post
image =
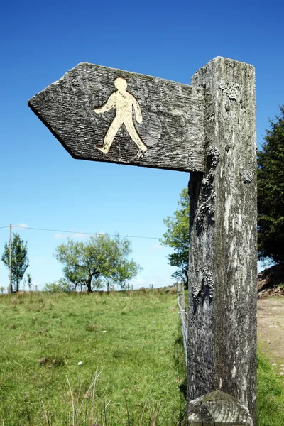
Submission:
<svg viewBox="0 0 284 426">
<path fill-rule="evenodd" d="M 258 258 L 284 263 L 284 105 L 258 152 Z"/>
</svg>

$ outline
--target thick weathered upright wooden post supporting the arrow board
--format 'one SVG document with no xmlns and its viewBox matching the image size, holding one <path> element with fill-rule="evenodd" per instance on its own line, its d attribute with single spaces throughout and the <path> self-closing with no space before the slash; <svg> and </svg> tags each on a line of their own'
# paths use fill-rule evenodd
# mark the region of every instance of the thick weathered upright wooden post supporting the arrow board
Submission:
<svg viewBox="0 0 284 426">
<path fill-rule="evenodd" d="M 207 169 L 191 173 L 189 185 L 188 405 L 221 389 L 256 425 L 254 68 L 217 57 L 192 85 L 205 90 Z"/>
</svg>

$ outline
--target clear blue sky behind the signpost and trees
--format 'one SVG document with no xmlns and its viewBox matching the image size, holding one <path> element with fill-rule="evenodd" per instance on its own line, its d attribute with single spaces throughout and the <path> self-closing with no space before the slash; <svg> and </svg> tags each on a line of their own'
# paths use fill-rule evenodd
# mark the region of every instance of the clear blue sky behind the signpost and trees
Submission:
<svg viewBox="0 0 284 426">
<path fill-rule="evenodd" d="M 256 67 L 257 134 L 284 103 L 283 1 L 4 1 L 0 16 L 0 226 L 160 237 L 189 175 L 73 160 L 27 101 L 79 62 L 190 84 L 215 56 Z M 14 229 L 28 241 L 34 283 L 62 276 L 57 232 Z M 77 239 L 84 236 L 74 236 Z M 0 251 L 9 229 L 0 229 Z M 143 272 L 134 287 L 168 285 L 158 239 L 131 239 Z M 0 286 L 9 279 L 0 264 Z"/>
</svg>

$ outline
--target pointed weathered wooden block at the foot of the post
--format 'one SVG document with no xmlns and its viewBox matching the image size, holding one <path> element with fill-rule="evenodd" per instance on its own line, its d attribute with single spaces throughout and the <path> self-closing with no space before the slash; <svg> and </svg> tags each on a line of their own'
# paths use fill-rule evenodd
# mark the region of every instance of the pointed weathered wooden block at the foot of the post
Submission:
<svg viewBox="0 0 284 426">
<path fill-rule="evenodd" d="M 253 426 L 248 408 L 222 391 L 213 391 L 190 401 L 187 426 Z"/>
</svg>

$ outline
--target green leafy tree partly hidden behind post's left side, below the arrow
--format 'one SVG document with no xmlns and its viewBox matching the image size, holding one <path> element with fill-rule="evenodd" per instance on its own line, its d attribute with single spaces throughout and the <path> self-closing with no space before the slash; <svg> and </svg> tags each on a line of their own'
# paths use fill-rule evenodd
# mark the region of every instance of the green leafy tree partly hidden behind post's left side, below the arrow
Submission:
<svg viewBox="0 0 284 426">
<path fill-rule="evenodd" d="M 190 244 L 190 201 L 187 188 L 180 192 L 178 209 L 175 210 L 173 217 L 166 217 L 164 224 L 168 229 L 163 234 L 163 239 L 160 240 L 160 243 L 173 249 L 173 253 L 168 255 L 168 260 L 169 264 L 176 266 L 178 270 L 172 276 L 180 280 L 187 288 Z"/>
</svg>

